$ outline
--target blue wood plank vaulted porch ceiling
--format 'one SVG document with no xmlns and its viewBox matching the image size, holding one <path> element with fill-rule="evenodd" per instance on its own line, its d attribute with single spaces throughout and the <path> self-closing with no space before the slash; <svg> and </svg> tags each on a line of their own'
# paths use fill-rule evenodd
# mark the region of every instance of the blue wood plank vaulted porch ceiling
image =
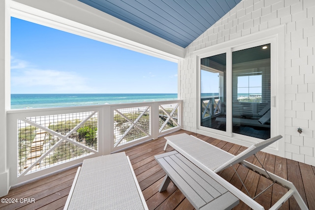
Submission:
<svg viewBox="0 0 315 210">
<path fill-rule="evenodd" d="M 187 47 L 241 0 L 79 0 Z"/>
</svg>

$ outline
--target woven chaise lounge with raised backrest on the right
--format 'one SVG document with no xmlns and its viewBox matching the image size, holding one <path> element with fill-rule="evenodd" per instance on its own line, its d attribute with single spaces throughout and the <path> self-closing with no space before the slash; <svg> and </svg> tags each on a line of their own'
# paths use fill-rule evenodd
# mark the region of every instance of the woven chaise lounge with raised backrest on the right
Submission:
<svg viewBox="0 0 315 210">
<path fill-rule="evenodd" d="M 295 200 L 297 201 L 298 205 L 300 206 L 302 210 L 308 210 L 306 204 L 304 203 L 302 197 L 300 196 L 300 194 L 298 193 L 297 189 L 295 188 L 292 182 L 285 180 L 281 177 L 278 177 L 270 172 L 267 172 L 263 168 L 263 166 L 262 168 L 260 168 L 256 165 L 253 165 L 252 163 L 245 161 L 246 158 L 250 157 L 251 155 L 255 155 L 255 153 L 257 153 L 258 151 L 264 149 L 268 145 L 281 139 L 282 138 L 281 135 L 267 139 L 260 143 L 254 144 L 247 150 L 244 150 L 243 152 L 238 154 L 237 156 L 230 154 L 224 150 L 221 150 L 220 148 L 217 148 L 211 144 L 208 144 L 205 141 L 202 141 L 186 133 L 173 135 L 173 136 L 167 136 L 164 138 L 167 140 L 164 150 L 166 150 L 167 145 L 170 145 L 171 147 L 173 147 L 185 158 L 190 160 L 194 165 L 196 165 L 203 172 L 205 172 L 211 178 L 213 178 L 218 183 L 220 183 L 223 187 L 225 187 L 228 191 L 234 194 L 237 198 L 239 198 L 241 201 L 243 201 L 253 210 L 264 210 L 264 208 L 260 204 L 258 204 L 256 201 L 254 201 L 255 197 L 251 198 L 245 193 L 243 193 L 241 190 L 233 186 L 231 183 L 221 178 L 217 174 L 218 172 L 228 167 L 233 167 L 233 165 L 236 163 L 240 163 L 246 168 L 249 168 L 252 171 L 266 177 L 267 179 L 272 180 L 273 184 L 278 183 L 288 189 L 288 192 L 284 194 L 284 196 L 281 199 L 279 199 L 279 201 L 276 202 L 270 208 L 270 210 L 279 209 L 282 206 L 282 204 L 287 199 L 289 199 L 291 195 L 294 196 Z M 244 185 L 243 182 L 242 184 Z"/>
</svg>

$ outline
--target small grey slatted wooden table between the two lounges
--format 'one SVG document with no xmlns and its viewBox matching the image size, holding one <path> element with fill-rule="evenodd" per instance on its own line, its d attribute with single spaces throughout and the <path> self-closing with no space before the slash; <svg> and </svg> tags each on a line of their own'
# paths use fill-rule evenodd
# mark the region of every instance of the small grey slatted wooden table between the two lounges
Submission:
<svg viewBox="0 0 315 210">
<path fill-rule="evenodd" d="M 166 173 L 159 192 L 172 180 L 196 210 L 230 210 L 239 204 L 238 198 L 177 151 L 155 158 Z"/>
</svg>

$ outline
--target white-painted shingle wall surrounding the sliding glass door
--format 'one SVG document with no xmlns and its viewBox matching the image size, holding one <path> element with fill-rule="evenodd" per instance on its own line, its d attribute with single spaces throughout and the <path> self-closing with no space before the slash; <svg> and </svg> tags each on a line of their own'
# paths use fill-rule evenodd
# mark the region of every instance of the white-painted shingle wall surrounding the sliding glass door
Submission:
<svg viewBox="0 0 315 210">
<path fill-rule="evenodd" d="M 197 128 L 197 66 L 192 53 L 280 25 L 285 25 L 284 153 L 315 166 L 315 0 L 243 0 L 193 41 L 180 62 L 184 129 Z"/>
</svg>

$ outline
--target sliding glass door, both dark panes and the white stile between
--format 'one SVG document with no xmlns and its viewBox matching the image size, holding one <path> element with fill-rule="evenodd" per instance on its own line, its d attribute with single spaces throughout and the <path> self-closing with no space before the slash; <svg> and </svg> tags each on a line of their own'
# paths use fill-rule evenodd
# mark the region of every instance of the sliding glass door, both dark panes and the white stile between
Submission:
<svg viewBox="0 0 315 210">
<path fill-rule="evenodd" d="M 200 59 L 201 127 L 228 132 L 227 136 L 270 138 L 270 48 L 271 44 L 228 48 Z"/>
</svg>

